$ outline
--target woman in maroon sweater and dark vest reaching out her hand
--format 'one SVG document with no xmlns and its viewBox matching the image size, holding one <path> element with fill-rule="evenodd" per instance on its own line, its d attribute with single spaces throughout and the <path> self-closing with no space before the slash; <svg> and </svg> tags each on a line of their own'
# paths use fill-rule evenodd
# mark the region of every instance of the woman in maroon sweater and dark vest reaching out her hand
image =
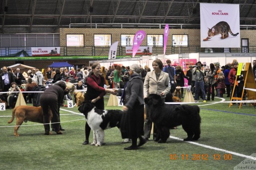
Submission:
<svg viewBox="0 0 256 170">
<path fill-rule="evenodd" d="M 105 89 L 104 84 L 106 84 L 106 80 L 102 75 L 100 75 L 100 63 L 94 63 L 92 65 L 92 71 L 89 73 L 87 78 L 87 91 L 84 100 L 92 100 L 94 106 L 101 110 L 104 110 L 103 97 L 106 92 L 114 95 L 117 92 L 115 89 Z M 86 122 L 84 145 L 89 143 L 90 130 L 91 128 Z"/>
</svg>

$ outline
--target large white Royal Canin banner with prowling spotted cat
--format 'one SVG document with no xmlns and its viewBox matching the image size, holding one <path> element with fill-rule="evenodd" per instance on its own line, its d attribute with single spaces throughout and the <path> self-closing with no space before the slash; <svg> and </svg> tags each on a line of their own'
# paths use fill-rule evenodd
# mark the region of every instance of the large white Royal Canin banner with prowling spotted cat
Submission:
<svg viewBox="0 0 256 170">
<path fill-rule="evenodd" d="M 239 4 L 200 3 L 201 48 L 240 48 Z"/>
</svg>

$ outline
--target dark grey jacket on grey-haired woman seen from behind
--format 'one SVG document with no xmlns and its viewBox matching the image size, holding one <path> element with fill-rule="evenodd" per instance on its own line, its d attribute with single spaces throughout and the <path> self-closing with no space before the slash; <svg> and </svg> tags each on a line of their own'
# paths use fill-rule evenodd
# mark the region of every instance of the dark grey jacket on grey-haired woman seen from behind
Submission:
<svg viewBox="0 0 256 170">
<path fill-rule="evenodd" d="M 145 104 L 144 103 L 144 96 L 143 96 L 143 78 L 140 75 L 132 76 L 128 84 L 125 88 L 125 106 L 129 109 L 132 109 L 135 102 L 138 102 L 139 105 Z"/>
</svg>

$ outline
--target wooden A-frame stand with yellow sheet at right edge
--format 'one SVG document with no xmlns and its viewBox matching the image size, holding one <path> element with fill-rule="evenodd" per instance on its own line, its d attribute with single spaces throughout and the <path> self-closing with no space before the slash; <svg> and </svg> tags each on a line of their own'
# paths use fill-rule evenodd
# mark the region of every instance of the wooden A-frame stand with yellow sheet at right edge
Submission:
<svg viewBox="0 0 256 170">
<path fill-rule="evenodd" d="M 254 80 L 254 74 L 252 72 L 251 63 L 249 63 L 249 62 L 240 63 L 239 66 L 238 66 L 237 72 L 236 72 L 236 80 L 235 80 L 235 83 L 234 83 L 234 88 L 232 90 L 232 96 L 231 96 L 231 100 L 230 101 L 232 101 L 232 100 L 240 100 L 240 101 L 242 101 L 243 100 L 244 88 L 243 88 L 242 96 L 241 97 L 233 97 L 234 96 L 234 91 L 235 91 L 235 88 L 236 88 L 237 77 L 238 77 L 238 75 L 241 75 L 241 73 L 244 76 L 244 88 L 256 89 L 256 82 Z M 256 92 L 251 91 L 251 90 L 246 90 L 246 92 L 247 92 L 247 97 L 248 97 L 249 100 L 256 99 Z M 231 106 L 231 102 L 229 104 L 229 107 L 230 106 Z M 241 108 L 241 106 L 242 106 L 242 102 L 240 102 L 239 108 Z"/>
</svg>

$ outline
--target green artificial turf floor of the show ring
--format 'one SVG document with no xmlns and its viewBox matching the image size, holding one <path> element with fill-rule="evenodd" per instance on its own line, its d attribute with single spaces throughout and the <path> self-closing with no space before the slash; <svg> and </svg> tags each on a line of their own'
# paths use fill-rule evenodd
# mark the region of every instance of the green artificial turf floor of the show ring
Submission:
<svg viewBox="0 0 256 170">
<path fill-rule="evenodd" d="M 225 98 L 229 100 L 229 98 Z M 202 102 L 202 100 L 199 100 Z M 220 101 L 215 98 L 215 102 Z M 122 109 L 106 106 L 105 109 Z M 256 109 L 253 106 L 228 107 L 227 103 L 208 105 L 199 103 L 201 138 L 199 144 L 220 148 L 238 154 L 250 156 L 256 153 Z M 202 106 L 201 106 L 202 105 Z M 204 106 L 205 105 L 205 106 Z M 20 127 L 19 137 L 13 135 L 14 127 L 0 127 L 0 169 L 1 170 L 93 170 L 93 169 L 134 169 L 134 170 L 231 170 L 245 158 L 232 154 L 231 160 L 224 160 L 222 151 L 197 146 L 173 138 L 165 144 L 148 141 L 138 150 L 124 150 L 131 143 L 123 144 L 118 128 L 105 130 L 104 146 L 82 145 L 84 142 L 84 116 L 78 108 L 61 107 L 60 119 L 64 134 L 46 136 L 42 124 Z M 66 111 L 67 110 L 67 111 Z M 11 111 L 1 111 L 0 116 L 10 116 Z M 76 112 L 72 114 L 68 111 Z M 16 119 L 8 124 L 10 117 L 0 117 L 0 126 L 14 126 Z M 22 125 L 34 125 L 27 122 Z M 186 138 L 181 126 L 170 130 L 171 136 Z M 92 131 L 90 142 L 92 142 Z M 170 154 L 177 156 L 170 160 Z M 184 160 L 182 160 L 184 154 Z M 186 155 L 188 160 L 186 160 Z M 192 160 L 193 154 L 200 155 L 199 160 Z M 214 160 L 214 154 L 220 154 L 220 160 Z M 175 157 L 174 156 L 174 157 Z M 208 156 L 208 160 L 205 160 Z M 226 155 L 227 156 L 227 155 Z M 196 157 L 195 157 L 196 158 Z"/>
</svg>

